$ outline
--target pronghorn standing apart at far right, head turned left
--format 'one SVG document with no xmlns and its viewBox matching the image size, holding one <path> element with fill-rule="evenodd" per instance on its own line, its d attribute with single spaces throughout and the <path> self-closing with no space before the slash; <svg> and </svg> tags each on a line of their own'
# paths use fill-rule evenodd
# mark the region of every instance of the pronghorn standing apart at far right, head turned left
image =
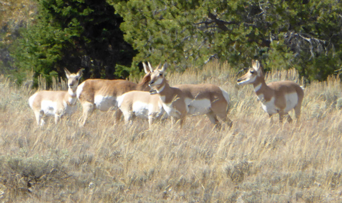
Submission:
<svg viewBox="0 0 342 203">
<path fill-rule="evenodd" d="M 259 61 L 252 60 L 252 67 L 244 76 L 238 79 L 238 84 L 252 84 L 254 86 L 256 96 L 261 101 L 262 109 L 270 117 L 278 113 L 280 122 L 285 116 L 287 121 L 291 122 L 292 119 L 288 112 L 295 109 L 296 118 L 299 119 L 304 97 L 303 89 L 292 81 L 278 81 L 266 84 Z"/>
</svg>

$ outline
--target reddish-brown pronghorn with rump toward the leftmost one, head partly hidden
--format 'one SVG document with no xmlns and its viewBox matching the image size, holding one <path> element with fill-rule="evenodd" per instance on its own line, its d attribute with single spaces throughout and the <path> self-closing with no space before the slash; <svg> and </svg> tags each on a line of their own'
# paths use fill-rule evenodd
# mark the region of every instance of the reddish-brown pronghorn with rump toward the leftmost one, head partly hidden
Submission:
<svg viewBox="0 0 342 203">
<path fill-rule="evenodd" d="M 111 107 L 117 108 L 117 97 L 121 94 L 132 91 L 149 91 L 148 82 L 151 73 L 145 63 L 144 71 L 146 75 L 139 84 L 127 80 L 104 80 L 88 79 L 81 83 L 76 91 L 77 98 L 80 100 L 83 108 L 83 116 L 80 123 L 84 126 L 88 116 L 94 107 L 100 111 L 108 111 Z M 121 118 L 121 111 L 116 111 L 116 120 Z"/>
</svg>

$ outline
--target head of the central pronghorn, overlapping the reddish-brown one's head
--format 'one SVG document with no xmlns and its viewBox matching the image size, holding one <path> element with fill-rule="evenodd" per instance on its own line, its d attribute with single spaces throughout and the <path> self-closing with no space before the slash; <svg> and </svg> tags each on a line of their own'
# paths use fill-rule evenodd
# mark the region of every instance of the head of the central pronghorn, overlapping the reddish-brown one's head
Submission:
<svg viewBox="0 0 342 203">
<path fill-rule="evenodd" d="M 148 83 L 148 85 L 152 88 L 150 93 L 155 94 L 158 92 L 159 89 L 161 89 L 165 84 L 165 70 L 167 67 L 167 63 L 165 62 L 164 65 L 161 67 L 161 63 L 156 67 L 156 69 L 153 71 L 151 64 L 148 63 L 151 73 L 151 80 Z"/>
</svg>

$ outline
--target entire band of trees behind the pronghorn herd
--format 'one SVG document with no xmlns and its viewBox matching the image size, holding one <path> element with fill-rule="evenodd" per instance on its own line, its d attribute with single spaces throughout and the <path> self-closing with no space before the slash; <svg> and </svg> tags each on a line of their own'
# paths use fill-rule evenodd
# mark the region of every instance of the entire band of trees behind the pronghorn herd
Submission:
<svg viewBox="0 0 342 203">
<path fill-rule="evenodd" d="M 338 0 L 1 0 L 0 74 L 115 79 L 139 76 L 142 61 L 182 72 L 258 59 L 323 81 L 341 68 L 341 14 Z"/>
</svg>

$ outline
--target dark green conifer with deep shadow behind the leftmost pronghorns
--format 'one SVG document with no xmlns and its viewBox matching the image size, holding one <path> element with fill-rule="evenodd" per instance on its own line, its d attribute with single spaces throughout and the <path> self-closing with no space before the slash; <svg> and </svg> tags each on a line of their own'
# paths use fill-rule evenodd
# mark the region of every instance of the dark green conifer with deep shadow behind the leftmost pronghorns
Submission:
<svg viewBox="0 0 342 203">
<path fill-rule="evenodd" d="M 104 0 L 39 0 L 35 24 L 22 30 L 12 51 L 19 82 L 33 70 L 50 83 L 64 67 L 85 69 L 85 78 L 115 78 L 116 64 L 130 66 L 136 53 L 123 41 L 121 21 Z"/>
</svg>

